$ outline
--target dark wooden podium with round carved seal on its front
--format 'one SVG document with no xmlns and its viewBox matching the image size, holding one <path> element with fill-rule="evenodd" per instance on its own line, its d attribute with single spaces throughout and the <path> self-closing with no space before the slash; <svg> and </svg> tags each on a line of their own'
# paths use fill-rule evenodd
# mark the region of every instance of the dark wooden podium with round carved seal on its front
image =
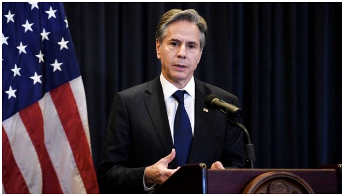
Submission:
<svg viewBox="0 0 344 196">
<path fill-rule="evenodd" d="M 153 194 L 341 194 L 342 165 L 332 169 L 225 169 L 186 165 Z"/>
</svg>

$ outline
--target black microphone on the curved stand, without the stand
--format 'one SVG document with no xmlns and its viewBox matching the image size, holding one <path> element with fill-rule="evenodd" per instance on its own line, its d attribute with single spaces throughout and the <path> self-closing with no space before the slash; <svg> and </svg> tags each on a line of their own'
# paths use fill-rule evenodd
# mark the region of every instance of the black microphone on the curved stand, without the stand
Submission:
<svg viewBox="0 0 344 196">
<path fill-rule="evenodd" d="M 226 101 L 220 99 L 216 95 L 210 94 L 205 96 L 204 104 L 209 109 L 220 109 L 222 112 L 227 114 L 230 118 L 241 118 L 242 110 L 235 105 L 227 103 Z"/>
</svg>

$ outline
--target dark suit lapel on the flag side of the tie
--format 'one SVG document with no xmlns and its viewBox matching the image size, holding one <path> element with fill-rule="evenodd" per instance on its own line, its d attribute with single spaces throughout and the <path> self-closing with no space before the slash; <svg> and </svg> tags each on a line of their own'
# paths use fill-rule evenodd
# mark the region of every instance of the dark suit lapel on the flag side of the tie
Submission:
<svg viewBox="0 0 344 196">
<path fill-rule="evenodd" d="M 173 141 L 160 78 L 157 77 L 156 79 L 152 80 L 148 84 L 145 91 L 147 96 L 144 98 L 144 102 L 154 124 L 155 130 L 159 136 L 160 142 L 166 152 L 166 155 L 168 155 L 171 153 L 173 148 Z M 173 159 L 170 164 L 172 168 L 176 168 L 176 159 Z"/>
</svg>

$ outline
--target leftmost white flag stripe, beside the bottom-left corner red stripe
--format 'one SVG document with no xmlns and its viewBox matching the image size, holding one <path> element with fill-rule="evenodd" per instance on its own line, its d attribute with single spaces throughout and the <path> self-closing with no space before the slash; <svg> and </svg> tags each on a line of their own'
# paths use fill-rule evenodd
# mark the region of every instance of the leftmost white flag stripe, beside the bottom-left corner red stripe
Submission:
<svg viewBox="0 0 344 196">
<path fill-rule="evenodd" d="M 14 160 L 24 177 L 30 194 L 41 194 L 43 187 L 42 169 L 19 113 L 2 122 L 2 126 L 7 133 Z"/>
</svg>

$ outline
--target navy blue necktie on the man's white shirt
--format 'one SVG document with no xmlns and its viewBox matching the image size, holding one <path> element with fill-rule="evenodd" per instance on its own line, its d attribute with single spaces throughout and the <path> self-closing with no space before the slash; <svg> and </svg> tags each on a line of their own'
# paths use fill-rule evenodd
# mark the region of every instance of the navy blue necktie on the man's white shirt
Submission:
<svg viewBox="0 0 344 196">
<path fill-rule="evenodd" d="M 184 93 L 186 91 L 178 90 L 172 95 L 178 101 L 173 124 L 173 137 L 179 166 L 187 164 L 192 143 L 192 129 L 184 106 Z"/>
</svg>

